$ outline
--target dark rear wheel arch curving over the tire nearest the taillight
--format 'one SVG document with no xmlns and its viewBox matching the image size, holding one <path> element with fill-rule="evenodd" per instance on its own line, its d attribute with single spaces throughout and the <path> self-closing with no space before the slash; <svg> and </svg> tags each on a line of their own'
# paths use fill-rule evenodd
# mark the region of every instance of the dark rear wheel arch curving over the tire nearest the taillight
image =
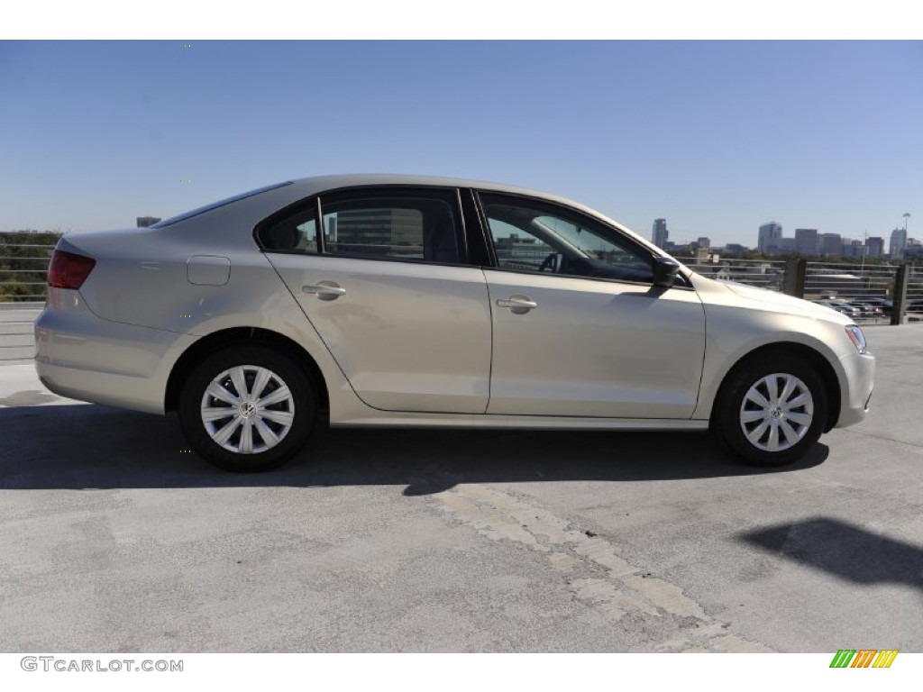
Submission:
<svg viewBox="0 0 923 692">
<path fill-rule="evenodd" d="M 314 357 L 297 341 L 270 329 L 258 327 L 225 328 L 210 333 L 197 340 L 176 360 L 164 393 L 163 408 L 165 412 L 176 411 L 179 405 L 180 391 L 186 377 L 202 359 L 211 353 L 232 346 L 264 346 L 283 352 L 301 367 L 311 380 L 318 393 L 318 411 L 327 412 L 330 408 L 330 394 L 327 382 Z"/>
</svg>

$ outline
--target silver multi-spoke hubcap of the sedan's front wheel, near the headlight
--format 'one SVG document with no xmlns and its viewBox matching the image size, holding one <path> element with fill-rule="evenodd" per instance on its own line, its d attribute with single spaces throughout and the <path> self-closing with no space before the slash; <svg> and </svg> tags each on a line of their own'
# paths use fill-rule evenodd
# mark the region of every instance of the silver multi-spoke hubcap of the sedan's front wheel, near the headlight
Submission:
<svg viewBox="0 0 923 692">
<path fill-rule="evenodd" d="M 749 443 L 766 452 L 781 452 L 808 434 L 814 399 L 794 375 L 773 373 L 749 388 L 740 404 L 740 429 Z"/>
</svg>

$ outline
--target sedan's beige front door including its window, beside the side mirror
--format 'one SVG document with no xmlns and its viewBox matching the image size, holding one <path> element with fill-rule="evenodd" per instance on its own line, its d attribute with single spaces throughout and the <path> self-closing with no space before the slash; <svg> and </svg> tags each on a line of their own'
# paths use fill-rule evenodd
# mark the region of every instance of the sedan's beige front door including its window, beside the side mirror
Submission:
<svg viewBox="0 0 923 692">
<path fill-rule="evenodd" d="M 480 196 L 496 254 L 489 414 L 688 419 L 705 349 L 689 286 L 653 287 L 653 255 L 579 211 Z"/>
</svg>

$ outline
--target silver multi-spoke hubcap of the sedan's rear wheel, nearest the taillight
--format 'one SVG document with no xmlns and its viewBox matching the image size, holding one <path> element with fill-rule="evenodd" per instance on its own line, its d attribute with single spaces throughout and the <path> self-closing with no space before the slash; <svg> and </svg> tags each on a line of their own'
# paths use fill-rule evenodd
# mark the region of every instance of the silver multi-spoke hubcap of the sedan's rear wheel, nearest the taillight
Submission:
<svg viewBox="0 0 923 692">
<path fill-rule="evenodd" d="M 294 397 L 270 369 L 237 365 L 211 380 L 200 414 L 215 443 L 237 454 L 259 454 L 292 429 Z"/>
</svg>

